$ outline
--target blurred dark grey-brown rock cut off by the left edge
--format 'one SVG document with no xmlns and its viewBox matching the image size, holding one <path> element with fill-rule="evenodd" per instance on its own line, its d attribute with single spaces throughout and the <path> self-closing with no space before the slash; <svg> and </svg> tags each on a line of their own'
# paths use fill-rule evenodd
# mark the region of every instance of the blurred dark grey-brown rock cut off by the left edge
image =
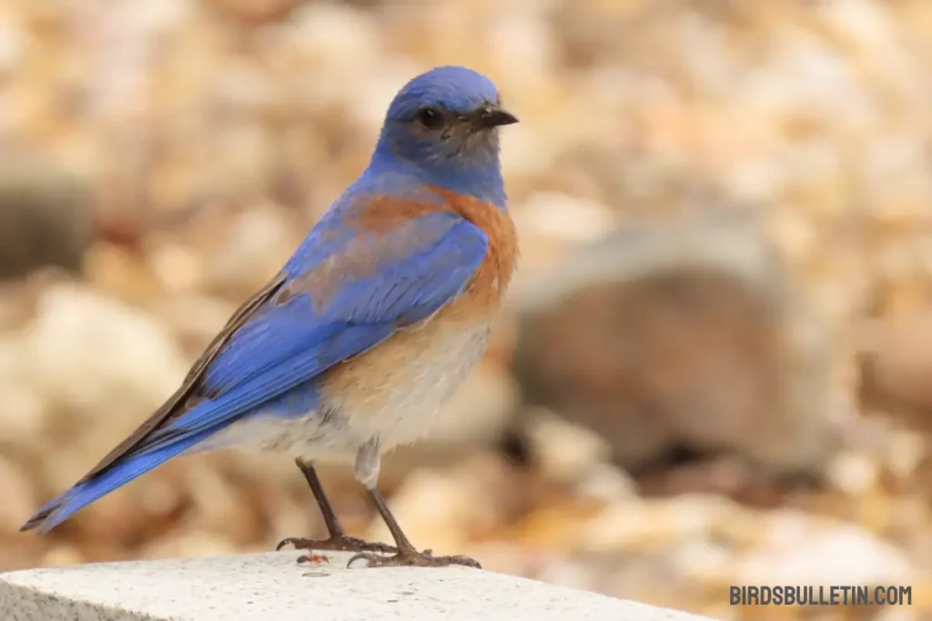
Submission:
<svg viewBox="0 0 932 621">
<path fill-rule="evenodd" d="M 93 236 L 89 187 L 51 157 L 0 144 L 0 278 L 81 269 Z"/>
</svg>

